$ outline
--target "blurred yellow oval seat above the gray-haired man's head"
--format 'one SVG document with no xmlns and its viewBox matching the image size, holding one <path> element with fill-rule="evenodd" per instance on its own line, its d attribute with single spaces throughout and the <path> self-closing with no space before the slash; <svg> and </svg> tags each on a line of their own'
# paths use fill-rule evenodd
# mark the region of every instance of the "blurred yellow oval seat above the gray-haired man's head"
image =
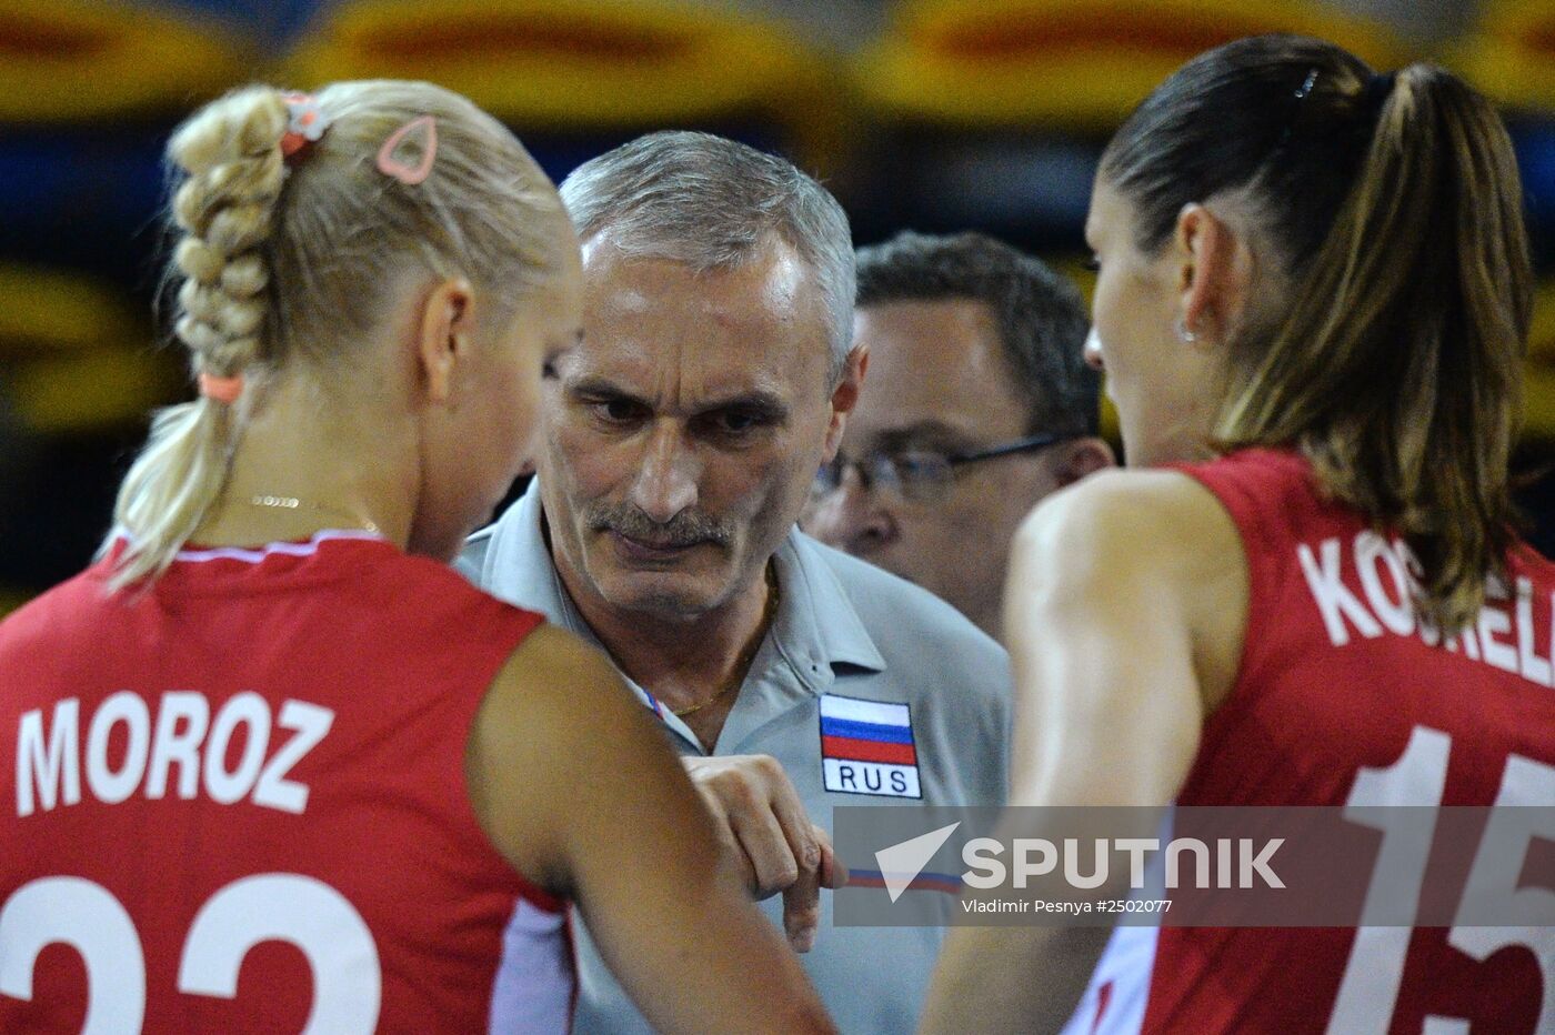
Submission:
<svg viewBox="0 0 1555 1035">
<path fill-rule="evenodd" d="M 347 0 L 286 62 L 302 85 L 425 78 L 530 129 L 815 117 L 827 62 L 784 28 L 673 0 Z"/>
</svg>

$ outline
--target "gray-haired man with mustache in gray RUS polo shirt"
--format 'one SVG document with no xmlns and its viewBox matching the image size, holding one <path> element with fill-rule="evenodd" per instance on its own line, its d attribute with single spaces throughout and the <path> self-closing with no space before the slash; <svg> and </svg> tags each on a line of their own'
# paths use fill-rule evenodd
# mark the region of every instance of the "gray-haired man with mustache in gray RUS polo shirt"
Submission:
<svg viewBox="0 0 1555 1035">
<path fill-rule="evenodd" d="M 841 1029 L 908 1032 L 939 931 L 832 928 L 832 807 L 1000 803 L 1009 673 L 949 605 L 795 528 L 868 365 L 847 219 L 703 134 L 619 148 L 561 196 L 585 336 L 547 359 L 535 485 L 462 567 L 610 653 L 753 892 L 782 892 Z M 577 1030 L 648 1030 L 580 942 Z"/>
</svg>

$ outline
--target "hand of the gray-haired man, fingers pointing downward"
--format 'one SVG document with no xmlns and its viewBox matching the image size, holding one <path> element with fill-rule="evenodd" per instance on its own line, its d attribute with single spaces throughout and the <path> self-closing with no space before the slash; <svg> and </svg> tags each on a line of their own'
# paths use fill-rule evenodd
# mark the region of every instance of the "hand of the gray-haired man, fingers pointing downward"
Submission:
<svg viewBox="0 0 1555 1035">
<path fill-rule="evenodd" d="M 821 889 L 847 883 L 832 839 L 810 822 L 799 793 L 771 755 L 681 760 L 746 887 L 757 898 L 782 892 L 788 943 L 809 953 L 821 923 Z"/>
</svg>

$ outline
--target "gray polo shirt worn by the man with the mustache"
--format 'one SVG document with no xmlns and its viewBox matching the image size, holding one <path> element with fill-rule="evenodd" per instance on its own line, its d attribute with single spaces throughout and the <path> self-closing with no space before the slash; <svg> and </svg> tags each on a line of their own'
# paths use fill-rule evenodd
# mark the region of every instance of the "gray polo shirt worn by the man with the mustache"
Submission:
<svg viewBox="0 0 1555 1035">
<path fill-rule="evenodd" d="M 459 567 L 487 592 L 597 643 L 561 586 L 540 511 L 530 485 L 494 525 L 471 536 Z M 778 614 L 711 754 L 774 757 L 827 831 L 835 805 L 1001 803 L 1011 695 L 1003 648 L 938 597 L 798 530 L 774 561 Z M 627 682 L 659 713 L 676 751 L 709 754 L 684 723 Z M 860 752 L 858 740 L 874 748 Z M 907 755 L 903 743 L 911 744 Z M 880 744 L 896 744 L 885 749 L 896 763 L 849 757 L 880 754 Z M 905 757 L 913 765 L 900 765 Z M 762 906 L 781 926 L 782 897 Z M 577 929 L 574 1030 L 650 1032 Z M 941 940 L 938 928 L 833 928 L 832 895 L 823 890 L 815 948 L 801 959 L 847 1035 L 911 1032 Z"/>
</svg>

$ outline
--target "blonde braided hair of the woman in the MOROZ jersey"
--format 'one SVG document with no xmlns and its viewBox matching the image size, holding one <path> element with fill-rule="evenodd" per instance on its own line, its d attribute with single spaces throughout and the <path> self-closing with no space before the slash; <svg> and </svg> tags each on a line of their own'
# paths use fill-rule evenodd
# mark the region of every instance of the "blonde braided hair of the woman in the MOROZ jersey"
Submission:
<svg viewBox="0 0 1555 1035">
<path fill-rule="evenodd" d="M 501 326 L 560 266 L 569 235 L 555 188 L 463 96 L 381 79 L 325 87 L 313 103 L 327 131 L 292 160 L 281 152 L 289 110 L 269 85 L 207 104 L 168 143 L 182 179 L 169 213 L 173 336 L 196 376 L 246 387 L 233 404 L 199 398 L 154 415 L 114 511 L 128 533 L 114 589 L 166 569 L 219 502 L 255 385 L 297 364 L 322 381 L 341 370 L 403 270 L 466 277 Z M 381 172 L 384 140 L 423 115 L 437 127 L 428 179 Z"/>
</svg>

